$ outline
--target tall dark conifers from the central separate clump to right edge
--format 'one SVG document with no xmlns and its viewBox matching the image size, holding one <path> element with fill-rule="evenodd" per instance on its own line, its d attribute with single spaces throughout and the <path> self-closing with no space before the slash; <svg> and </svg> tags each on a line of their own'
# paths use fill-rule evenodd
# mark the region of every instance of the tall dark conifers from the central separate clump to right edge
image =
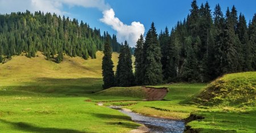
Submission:
<svg viewBox="0 0 256 133">
<path fill-rule="evenodd" d="M 152 23 L 146 37 L 141 35 L 134 50 L 133 76 L 130 76 L 131 62 L 121 61 L 123 51 L 118 66 L 126 67 L 118 67 L 115 75 L 113 62 L 112 66 L 102 63 L 102 70 L 105 65 L 112 70 L 111 76 L 107 70 L 102 73 L 104 88 L 172 81 L 207 82 L 223 74 L 256 70 L 256 14 L 247 25 L 245 16 L 241 13 L 238 16 L 234 6 L 231 10 L 227 8 L 225 16 L 219 4 L 213 12 L 208 2 L 199 7 L 194 0 L 191 7 L 187 18 L 177 22 L 171 31 L 166 28 L 158 35 Z M 119 74 L 120 71 L 123 73 Z"/>
</svg>

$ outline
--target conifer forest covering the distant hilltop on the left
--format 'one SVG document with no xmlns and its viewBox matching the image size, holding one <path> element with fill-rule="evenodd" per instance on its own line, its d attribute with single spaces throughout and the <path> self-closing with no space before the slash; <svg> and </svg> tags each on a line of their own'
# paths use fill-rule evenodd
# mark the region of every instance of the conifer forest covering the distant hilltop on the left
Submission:
<svg viewBox="0 0 256 133">
<path fill-rule="evenodd" d="M 12 55 L 26 54 L 35 57 L 40 51 L 46 59 L 61 62 L 63 54 L 84 59 L 96 58 L 97 50 L 103 50 L 108 32 L 101 36 L 100 29 L 77 19 L 61 18 L 56 14 L 36 11 L 0 15 L 0 62 Z M 119 52 L 117 37 L 110 37 L 113 52 Z M 54 55 L 58 55 L 54 58 Z"/>
</svg>

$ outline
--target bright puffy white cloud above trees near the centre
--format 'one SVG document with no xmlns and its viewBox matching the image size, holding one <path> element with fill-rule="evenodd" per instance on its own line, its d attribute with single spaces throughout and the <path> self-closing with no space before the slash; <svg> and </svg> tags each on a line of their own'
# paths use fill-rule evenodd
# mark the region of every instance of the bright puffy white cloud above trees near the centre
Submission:
<svg viewBox="0 0 256 133">
<path fill-rule="evenodd" d="M 131 46 L 135 46 L 139 36 L 144 34 L 144 25 L 139 22 L 132 22 L 131 25 L 123 24 L 117 17 L 113 8 L 102 12 L 101 22 L 110 25 L 117 31 L 117 40 L 119 42 L 127 40 Z"/>
</svg>

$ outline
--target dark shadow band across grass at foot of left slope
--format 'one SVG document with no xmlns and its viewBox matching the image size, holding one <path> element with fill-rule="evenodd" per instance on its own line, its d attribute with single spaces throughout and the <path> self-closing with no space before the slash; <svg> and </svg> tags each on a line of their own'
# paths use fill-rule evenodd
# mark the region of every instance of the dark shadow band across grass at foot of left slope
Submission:
<svg viewBox="0 0 256 133">
<path fill-rule="evenodd" d="M 102 90 L 101 78 L 79 78 L 79 79 L 55 79 L 55 78 L 36 78 L 29 83 L 20 85 L 3 86 L 0 89 L 6 91 L 26 91 L 33 93 L 50 94 L 91 94 Z M 1 93 L 0 93 L 1 95 Z M 11 94 L 10 94 L 11 95 Z M 75 95 L 74 95 L 75 96 Z"/>
</svg>

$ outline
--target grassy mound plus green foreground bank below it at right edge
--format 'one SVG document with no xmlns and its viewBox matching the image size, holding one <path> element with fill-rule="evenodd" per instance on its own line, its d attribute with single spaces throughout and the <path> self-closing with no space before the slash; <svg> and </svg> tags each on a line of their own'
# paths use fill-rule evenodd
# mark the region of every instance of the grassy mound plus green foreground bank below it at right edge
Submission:
<svg viewBox="0 0 256 133">
<path fill-rule="evenodd" d="M 201 132 L 256 132 L 255 96 L 256 72 L 224 75 L 193 99 L 209 109 L 194 112 L 205 118 L 188 126 Z"/>
</svg>

